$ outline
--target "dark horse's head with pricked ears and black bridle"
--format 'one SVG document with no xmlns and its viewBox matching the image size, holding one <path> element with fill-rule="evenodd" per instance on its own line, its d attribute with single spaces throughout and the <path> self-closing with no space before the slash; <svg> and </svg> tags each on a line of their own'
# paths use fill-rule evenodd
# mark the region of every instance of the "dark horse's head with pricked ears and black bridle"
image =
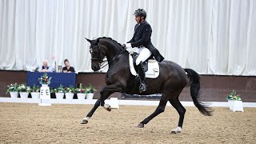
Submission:
<svg viewBox="0 0 256 144">
<path fill-rule="evenodd" d="M 90 42 L 90 54 L 91 54 L 91 69 L 94 71 L 98 71 L 101 69 L 101 64 L 103 59 L 106 57 L 104 50 L 102 50 L 102 46 L 99 43 L 99 38 L 96 40 L 87 39 Z"/>
</svg>

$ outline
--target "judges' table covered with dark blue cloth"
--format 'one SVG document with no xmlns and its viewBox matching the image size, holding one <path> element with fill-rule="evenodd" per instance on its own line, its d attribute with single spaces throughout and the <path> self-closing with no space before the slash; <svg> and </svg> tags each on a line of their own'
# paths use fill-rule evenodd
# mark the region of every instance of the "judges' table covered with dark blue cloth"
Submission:
<svg viewBox="0 0 256 144">
<path fill-rule="evenodd" d="M 41 86 L 38 82 L 38 78 L 44 73 L 39 72 L 27 72 L 26 74 L 26 85 L 27 86 Z M 51 77 L 50 87 L 57 88 L 62 85 L 66 86 L 75 86 L 76 83 L 76 73 L 47 73 L 48 77 Z"/>
</svg>

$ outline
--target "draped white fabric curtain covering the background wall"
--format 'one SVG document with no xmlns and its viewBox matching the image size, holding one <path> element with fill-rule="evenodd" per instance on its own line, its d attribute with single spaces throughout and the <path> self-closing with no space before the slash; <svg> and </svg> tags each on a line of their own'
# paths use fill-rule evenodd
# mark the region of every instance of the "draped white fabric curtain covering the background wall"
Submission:
<svg viewBox="0 0 256 144">
<path fill-rule="evenodd" d="M 45 58 L 63 66 L 67 58 L 91 71 L 84 38 L 127 42 L 138 8 L 166 60 L 199 74 L 256 75 L 255 0 L 2 0 L 0 69 L 31 70 Z"/>
</svg>

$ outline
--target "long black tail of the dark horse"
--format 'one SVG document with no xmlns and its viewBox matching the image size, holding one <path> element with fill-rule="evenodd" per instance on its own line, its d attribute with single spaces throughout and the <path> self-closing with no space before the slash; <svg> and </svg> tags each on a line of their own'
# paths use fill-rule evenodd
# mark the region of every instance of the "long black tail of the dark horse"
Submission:
<svg viewBox="0 0 256 144">
<path fill-rule="evenodd" d="M 213 110 L 208 106 L 204 106 L 202 102 L 198 102 L 200 96 L 200 76 L 197 72 L 191 69 L 184 69 L 190 78 L 190 94 L 194 102 L 194 106 L 198 108 L 201 114 L 210 116 Z"/>
</svg>

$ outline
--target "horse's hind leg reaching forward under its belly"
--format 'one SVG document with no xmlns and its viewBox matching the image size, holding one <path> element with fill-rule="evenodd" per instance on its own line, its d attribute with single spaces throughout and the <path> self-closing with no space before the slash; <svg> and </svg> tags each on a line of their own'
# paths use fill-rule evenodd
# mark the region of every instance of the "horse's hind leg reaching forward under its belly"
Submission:
<svg viewBox="0 0 256 144">
<path fill-rule="evenodd" d="M 140 122 L 138 124 L 138 128 L 143 128 L 144 125 L 146 125 L 148 122 L 150 122 L 151 119 L 156 117 L 158 114 L 161 114 L 162 112 L 164 112 L 167 102 L 168 102 L 168 99 L 166 98 L 166 94 L 162 94 L 162 98 L 160 99 L 157 109 L 154 111 L 153 114 L 150 114 L 149 117 L 145 118 L 142 122 Z"/>
</svg>

